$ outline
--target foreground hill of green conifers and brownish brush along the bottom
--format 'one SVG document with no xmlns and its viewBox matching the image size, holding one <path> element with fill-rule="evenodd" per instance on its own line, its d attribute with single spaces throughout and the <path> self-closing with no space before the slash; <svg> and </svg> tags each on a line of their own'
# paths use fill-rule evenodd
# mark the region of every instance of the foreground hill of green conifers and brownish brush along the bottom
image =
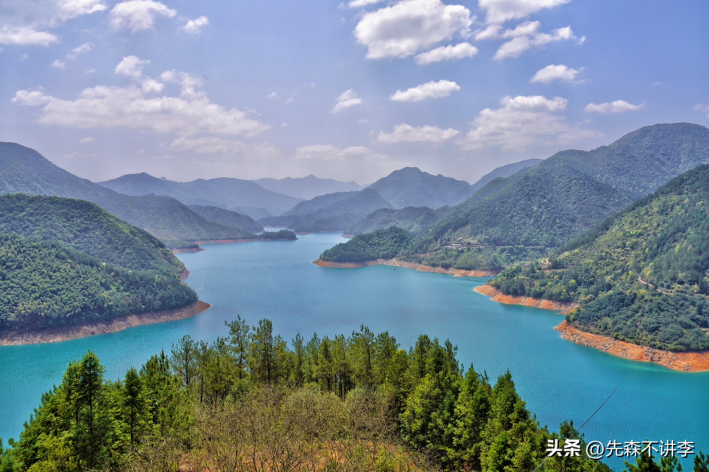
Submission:
<svg viewBox="0 0 709 472">
<path fill-rule="evenodd" d="M 0 470 L 610 472 L 573 422 L 542 427 L 510 372 L 464 369 L 449 340 L 420 335 L 406 350 L 362 326 L 298 334 L 291 349 L 267 319 L 228 328 L 211 344 L 184 336 L 118 381 L 93 352 L 69 363 L 0 448 Z M 550 456 L 549 443 L 579 456 Z M 631 470 L 676 471 L 665 459 Z M 707 470 L 705 456 L 695 464 Z"/>
</svg>

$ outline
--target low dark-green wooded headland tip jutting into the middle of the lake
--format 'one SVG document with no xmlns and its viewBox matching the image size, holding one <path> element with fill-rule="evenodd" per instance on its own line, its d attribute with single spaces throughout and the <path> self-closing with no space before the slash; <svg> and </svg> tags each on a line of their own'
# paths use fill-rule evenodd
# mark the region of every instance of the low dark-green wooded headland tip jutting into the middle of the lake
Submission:
<svg viewBox="0 0 709 472">
<path fill-rule="evenodd" d="M 391 226 L 374 233 L 355 236 L 320 254 L 320 259 L 335 263 L 362 262 L 364 260 L 391 259 L 411 245 L 407 231 Z"/>
</svg>

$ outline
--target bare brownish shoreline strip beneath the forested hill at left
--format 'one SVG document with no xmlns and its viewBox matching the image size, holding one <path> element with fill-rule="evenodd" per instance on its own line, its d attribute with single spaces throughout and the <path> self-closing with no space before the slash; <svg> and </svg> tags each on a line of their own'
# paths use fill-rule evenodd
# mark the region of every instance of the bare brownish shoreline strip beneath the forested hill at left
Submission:
<svg viewBox="0 0 709 472">
<path fill-rule="evenodd" d="M 164 323 L 191 318 L 208 309 L 211 305 L 197 300 L 182 308 L 172 310 L 147 311 L 135 315 L 121 316 L 106 321 L 94 321 L 76 326 L 59 326 L 30 332 L 0 334 L 0 346 L 60 343 L 72 339 L 86 338 L 96 334 L 116 333 L 135 326 Z"/>
</svg>

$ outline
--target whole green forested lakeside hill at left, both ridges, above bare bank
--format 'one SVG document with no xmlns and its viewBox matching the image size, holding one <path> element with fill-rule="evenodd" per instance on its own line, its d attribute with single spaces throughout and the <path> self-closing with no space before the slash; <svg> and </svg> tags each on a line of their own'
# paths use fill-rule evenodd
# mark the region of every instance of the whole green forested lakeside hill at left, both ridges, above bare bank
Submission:
<svg viewBox="0 0 709 472">
<path fill-rule="evenodd" d="M 0 331 L 101 321 L 196 301 L 155 237 L 85 200 L 0 196 Z"/>
</svg>

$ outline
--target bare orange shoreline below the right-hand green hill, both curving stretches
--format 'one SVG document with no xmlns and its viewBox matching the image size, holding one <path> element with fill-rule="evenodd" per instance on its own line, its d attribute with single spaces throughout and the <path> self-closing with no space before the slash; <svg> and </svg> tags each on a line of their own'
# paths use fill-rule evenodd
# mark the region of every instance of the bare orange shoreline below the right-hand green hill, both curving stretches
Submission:
<svg viewBox="0 0 709 472">
<path fill-rule="evenodd" d="M 532 297 L 514 297 L 505 295 L 498 289 L 488 284 L 475 287 L 479 294 L 492 297 L 493 301 L 503 304 L 532 306 L 545 310 L 559 311 L 566 315 L 576 309 L 579 304 L 573 302 L 533 299 Z M 580 346 L 593 347 L 615 357 L 623 357 L 637 362 L 652 362 L 668 369 L 680 372 L 709 371 L 709 351 L 704 352 L 671 352 L 655 349 L 654 347 L 640 346 L 615 340 L 607 336 L 586 333 L 571 326 L 566 320 L 554 327 L 562 334 L 562 338 Z"/>
</svg>

